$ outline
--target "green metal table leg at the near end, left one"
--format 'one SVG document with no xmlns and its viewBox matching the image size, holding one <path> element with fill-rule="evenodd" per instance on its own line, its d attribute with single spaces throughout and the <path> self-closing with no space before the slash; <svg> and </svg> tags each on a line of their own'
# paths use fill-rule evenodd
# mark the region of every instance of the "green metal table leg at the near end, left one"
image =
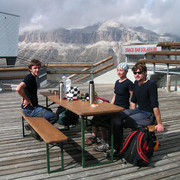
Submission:
<svg viewBox="0 0 180 180">
<path fill-rule="evenodd" d="M 85 167 L 85 127 L 84 127 L 84 117 L 82 117 L 81 119 L 81 138 L 82 138 L 82 142 L 81 142 L 81 145 L 82 145 L 82 167 L 84 168 Z"/>
</svg>

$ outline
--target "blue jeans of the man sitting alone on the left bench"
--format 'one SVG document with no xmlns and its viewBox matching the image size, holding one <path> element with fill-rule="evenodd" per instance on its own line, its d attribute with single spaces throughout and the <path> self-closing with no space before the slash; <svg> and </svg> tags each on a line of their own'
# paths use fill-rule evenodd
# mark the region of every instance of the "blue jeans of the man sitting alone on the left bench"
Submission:
<svg viewBox="0 0 180 180">
<path fill-rule="evenodd" d="M 44 117 L 51 124 L 54 124 L 57 120 L 55 113 L 53 113 L 52 111 L 48 111 L 47 109 L 41 106 L 35 106 L 33 110 L 22 108 L 22 112 L 24 113 L 24 115 L 30 117 Z"/>
</svg>

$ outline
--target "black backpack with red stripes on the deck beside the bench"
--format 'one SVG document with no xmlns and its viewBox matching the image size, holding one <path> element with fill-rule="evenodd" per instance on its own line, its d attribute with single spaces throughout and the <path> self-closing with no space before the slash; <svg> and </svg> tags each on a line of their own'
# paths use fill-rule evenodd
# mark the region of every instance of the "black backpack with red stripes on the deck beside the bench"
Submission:
<svg viewBox="0 0 180 180">
<path fill-rule="evenodd" d="M 157 143 L 154 132 L 149 132 L 147 128 L 139 128 L 126 137 L 120 154 L 134 166 L 145 167 L 149 165 L 153 152 L 157 149 Z"/>
</svg>

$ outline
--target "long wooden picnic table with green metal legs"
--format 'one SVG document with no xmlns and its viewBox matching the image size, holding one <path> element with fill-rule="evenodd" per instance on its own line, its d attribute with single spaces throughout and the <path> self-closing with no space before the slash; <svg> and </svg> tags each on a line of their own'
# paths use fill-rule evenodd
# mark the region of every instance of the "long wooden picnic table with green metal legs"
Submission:
<svg viewBox="0 0 180 180">
<path fill-rule="evenodd" d="M 96 107 L 92 106 L 88 101 L 73 100 L 68 101 L 66 99 L 60 100 L 59 95 L 51 94 L 50 92 L 40 92 L 46 97 L 46 105 L 48 105 L 48 100 L 63 106 L 64 108 L 74 112 L 75 114 L 81 116 L 81 150 L 82 150 L 82 167 L 85 167 L 85 120 L 87 116 L 96 115 L 113 115 L 117 112 L 123 111 L 124 108 L 120 106 L 113 105 L 108 102 L 103 102 L 97 104 Z M 113 125 L 111 121 L 111 162 L 113 162 Z M 101 163 L 99 163 L 101 164 Z M 104 163 L 102 163 L 104 164 Z M 97 165 L 97 164 L 96 164 Z"/>
</svg>

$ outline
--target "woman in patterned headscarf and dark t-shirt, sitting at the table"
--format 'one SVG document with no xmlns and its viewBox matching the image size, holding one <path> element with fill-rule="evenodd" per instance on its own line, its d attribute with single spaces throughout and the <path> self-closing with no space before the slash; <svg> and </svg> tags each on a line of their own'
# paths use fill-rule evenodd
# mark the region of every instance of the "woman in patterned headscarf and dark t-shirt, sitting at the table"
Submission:
<svg viewBox="0 0 180 180">
<path fill-rule="evenodd" d="M 129 99 L 132 96 L 133 83 L 126 77 L 129 66 L 127 63 L 120 63 L 117 66 L 117 75 L 120 79 L 118 79 L 114 86 L 114 96 L 111 100 L 111 104 L 115 104 L 121 106 L 125 109 L 129 109 L 130 103 Z M 99 126 L 97 122 L 101 119 L 108 119 L 110 121 L 110 117 L 108 116 L 95 116 L 93 117 L 92 124 L 92 135 L 86 140 L 86 145 L 98 144 L 95 147 L 96 151 L 106 152 L 109 150 L 109 144 L 107 143 L 107 135 L 106 135 L 106 127 Z M 97 133 L 100 130 L 101 141 L 98 143 Z"/>
</svg>

